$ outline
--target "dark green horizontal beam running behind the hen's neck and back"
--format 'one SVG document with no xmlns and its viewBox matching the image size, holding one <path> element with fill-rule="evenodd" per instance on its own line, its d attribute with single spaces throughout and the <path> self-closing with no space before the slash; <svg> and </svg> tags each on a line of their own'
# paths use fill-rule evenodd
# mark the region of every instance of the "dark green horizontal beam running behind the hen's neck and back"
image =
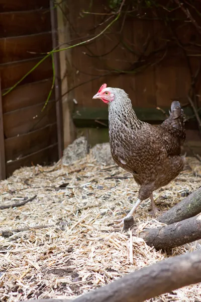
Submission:
<svg viewBox="0 0 201 302">
<path fill-rule="evenodd" d="M 170 108 L 162 108 L 168 115 Z M 134 108 L 137 117 L 147 122 L 162 122 L 165 119 L 164 114 L 156 108 Z M 186 116 L 193 116 L 191 107 L 185 107 Z M 201 110 L 199 110 L 201 116 Z M 73 121 L 76 127 L 108 127 L 108 107 L 87 108 L 75 107 Z"/>
</svg>

